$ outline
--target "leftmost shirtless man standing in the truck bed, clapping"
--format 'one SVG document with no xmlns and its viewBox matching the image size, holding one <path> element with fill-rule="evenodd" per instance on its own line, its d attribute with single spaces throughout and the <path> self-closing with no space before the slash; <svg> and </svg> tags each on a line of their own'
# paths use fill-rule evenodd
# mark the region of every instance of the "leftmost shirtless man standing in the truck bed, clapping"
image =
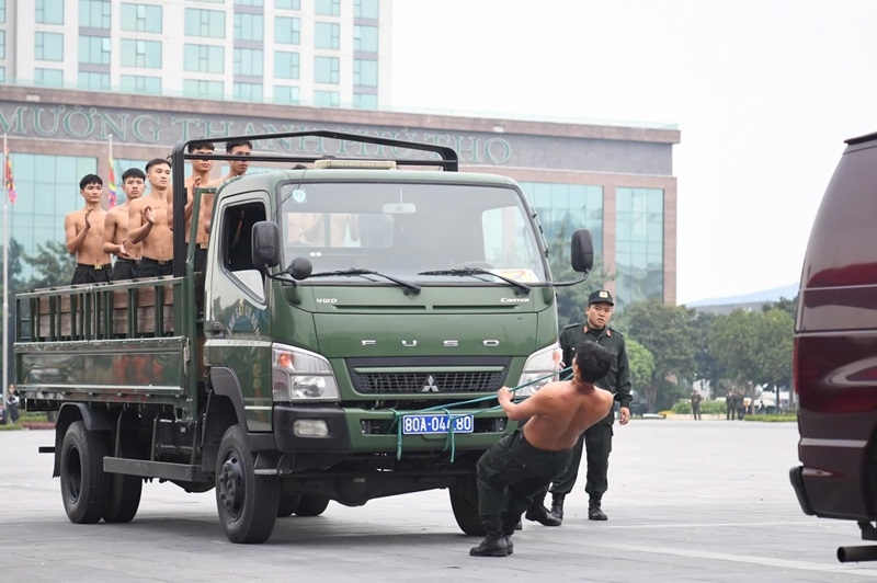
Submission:
<svg viewBox="0 0 877 583">
<path fill-rule="evenodd" d="M 67 252 L 76 255 L 71 284 L 110 282 L 110 255 L 103 250 L 103 225 L 106 212 L 101 208 L 103 181 L 96 174 L 86 174 L 79 181 L 79 194 L 86 207 L 69 213 L 64 219 Z"/>
</svg>

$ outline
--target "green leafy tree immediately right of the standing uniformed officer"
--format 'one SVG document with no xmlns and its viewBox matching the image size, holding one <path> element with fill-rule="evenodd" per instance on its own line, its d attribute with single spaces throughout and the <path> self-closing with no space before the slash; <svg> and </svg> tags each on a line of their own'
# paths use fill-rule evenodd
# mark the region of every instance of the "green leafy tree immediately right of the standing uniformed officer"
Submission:
<svg viewBox="0 0 877 583">
<path fill-rule="evenodd" d="M 658 299 L 641 301 L 625 309 L 622 324 L 630 340 L 642 344 L 654 357 L 654 369 L 645 384 L 649 410 L 672 405 L 679 397 L 687 395 L 695 371 L 691 311 Z"/>
</svg>

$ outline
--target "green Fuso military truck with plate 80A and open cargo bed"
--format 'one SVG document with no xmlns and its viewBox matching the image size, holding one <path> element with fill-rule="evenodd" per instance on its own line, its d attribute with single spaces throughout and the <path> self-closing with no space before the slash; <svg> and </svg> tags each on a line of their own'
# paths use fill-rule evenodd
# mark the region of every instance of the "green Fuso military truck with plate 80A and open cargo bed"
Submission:
<svg viewBox="0 0 877 583">
<path fill-rule="evenodd" d="M 373 156 L 252 156 L 265 171 L 195 197 L 194 217 L 213 199 L 204 273 L 175 213 L 172 276 L 16 297 L 15 380 L 27 411 L 57 412 L 41 451 L 69 519 L 129 522 L 158 479 L 215 489 L 227 537 L 262 542 L 332 500 L 447 489 L 479 534 L 476 461 L 513 430 L 490 397 L 555 370 L 554 286 L 584 279 L 590 233 L 571 240 L 582 277 L 555 284 L 520 186 L 458 172 L 453 149 L 320 130 L 217 151 L 239 139 Z M 175 208 L 206 158 L 189 144 Z"/>
</svg>

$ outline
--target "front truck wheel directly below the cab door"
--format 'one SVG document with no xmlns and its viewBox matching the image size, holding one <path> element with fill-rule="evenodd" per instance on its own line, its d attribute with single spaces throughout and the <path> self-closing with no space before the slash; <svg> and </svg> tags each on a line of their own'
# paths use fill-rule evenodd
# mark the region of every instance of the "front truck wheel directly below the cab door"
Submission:
<svg viewBox="0 0 877 583">
<path fill-rule="evenodd" d="M 226 430 L 216 458 L 216 507 L 231 542 L 264 542 L 277 519 L 277 476 L 255 473 L 254 457 L 238 425 Z"/>
</svg>

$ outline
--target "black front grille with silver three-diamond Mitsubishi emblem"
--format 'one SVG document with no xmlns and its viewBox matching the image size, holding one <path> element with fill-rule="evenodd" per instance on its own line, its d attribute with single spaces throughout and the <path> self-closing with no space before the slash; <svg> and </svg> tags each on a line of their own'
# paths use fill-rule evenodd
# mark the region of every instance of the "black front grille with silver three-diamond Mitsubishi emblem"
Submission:
<svg viewBox="0 0 877 583">
<path fill-rule="evenodd" d="M 489 392 L 502 387 L 505 373 L 354 374 L 356 390 L 369 395 Z"/>
</svg>

